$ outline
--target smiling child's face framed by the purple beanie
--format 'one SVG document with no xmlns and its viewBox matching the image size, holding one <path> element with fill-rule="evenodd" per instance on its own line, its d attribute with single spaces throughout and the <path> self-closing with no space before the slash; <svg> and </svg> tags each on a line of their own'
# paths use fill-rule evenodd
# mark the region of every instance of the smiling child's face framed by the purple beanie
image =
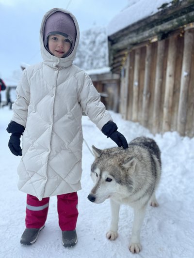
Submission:
<svg viewBox="0 0 194 258">
<path fill-rule="evenodd" d="M 71 48 L 70 41 L 60 34 L 49 35 L 49 51 L 55 57 L 63 57 Z"/>
</svg>

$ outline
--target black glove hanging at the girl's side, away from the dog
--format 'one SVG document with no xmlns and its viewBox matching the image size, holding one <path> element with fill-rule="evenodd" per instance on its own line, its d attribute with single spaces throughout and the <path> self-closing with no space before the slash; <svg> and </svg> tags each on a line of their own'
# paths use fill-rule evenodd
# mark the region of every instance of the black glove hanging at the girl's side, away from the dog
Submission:
<svg viewBox="0 0 194 258">
<path fill-rule="evenodd" d="M 6 130 L 8 133 L 12 133 L 8 143 L 10 151 L 16 156 L 22 156 L 20 137 L 23 134 L 25 127 L 15 121 L 11 121 Z"/>
</svg>

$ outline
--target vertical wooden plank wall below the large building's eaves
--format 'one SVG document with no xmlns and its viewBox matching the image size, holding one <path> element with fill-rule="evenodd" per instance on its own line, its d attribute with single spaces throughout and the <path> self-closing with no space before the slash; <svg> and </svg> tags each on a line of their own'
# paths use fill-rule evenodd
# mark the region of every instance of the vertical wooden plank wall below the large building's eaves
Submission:
<svg viewBox="0 0 194 258">
<path fill-rule="evenodd" d="M 194 137 L 194 29 L 129 51 L 119 112 L 153 134 Z M 126 99 L 127 97 L 127 99 Z"/>
</svg>

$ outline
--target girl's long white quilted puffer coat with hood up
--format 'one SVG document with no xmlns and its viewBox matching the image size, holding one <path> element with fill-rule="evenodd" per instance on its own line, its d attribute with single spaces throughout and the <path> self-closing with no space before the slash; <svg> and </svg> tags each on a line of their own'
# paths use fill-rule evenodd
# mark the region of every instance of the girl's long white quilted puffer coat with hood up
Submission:
<svg viewBox="0 0 194 258">
<path fill-rule="evenodd" d="M 45 20 L 56 11 L 71 15 L 77 29 L 74 50 L 66 58 L 52 56 L 43 43 Z M 18 188 L 39 200 L 81 189 L 82 109 L 100 130 L 112 120 L 90 77 L 72 64 L 79 36 L 71 13 L 50 10 L 40 30 L 43 62 L 26 68 L 16 89 L 12 120 L 25 127 Z"/>
</svg>

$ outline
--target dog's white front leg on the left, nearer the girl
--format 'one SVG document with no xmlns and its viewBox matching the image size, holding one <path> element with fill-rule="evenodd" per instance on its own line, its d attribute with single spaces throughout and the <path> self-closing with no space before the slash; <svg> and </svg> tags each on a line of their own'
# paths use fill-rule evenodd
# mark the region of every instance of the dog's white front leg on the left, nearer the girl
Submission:
<svg viewBox="0 0 194 258">
<path fill-rule="evenodd" d="M 120 204 L 110 199 L 111 202 L 111 227 L 106 234 L 106 237 L 110 240 L 115 240 L 118 236 L 118 219 L 119 219 L 119 209 Z"/>
</svg>

